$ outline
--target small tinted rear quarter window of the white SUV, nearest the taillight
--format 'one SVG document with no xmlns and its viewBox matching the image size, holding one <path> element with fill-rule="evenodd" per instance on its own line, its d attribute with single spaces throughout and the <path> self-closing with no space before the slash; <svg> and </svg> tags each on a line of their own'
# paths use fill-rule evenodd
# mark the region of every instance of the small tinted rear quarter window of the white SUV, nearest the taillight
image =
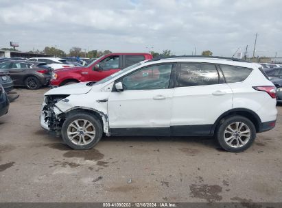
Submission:
<svg viewBox="0 0 282 208">
<path fill-rule="evenodd" d="M 252 72 L 251 68 L 241 66 L 220 65 L 220 68 L 222 69 L 226 83 L 244 81 Z"/>
</svg>

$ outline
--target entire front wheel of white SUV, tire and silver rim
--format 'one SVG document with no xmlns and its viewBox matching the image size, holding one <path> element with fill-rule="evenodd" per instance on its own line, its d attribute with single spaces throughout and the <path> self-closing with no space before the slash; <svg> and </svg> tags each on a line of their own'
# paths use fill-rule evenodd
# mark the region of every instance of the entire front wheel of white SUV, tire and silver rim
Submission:
<svg viewBox="0 0 282 208">
<path fill-rule="evenodd" d="M 94 115 L 71 114 L 62 125 L 62 139 L 74 149 L 89 149 L 102 138 L 102 124 Z"/>
</svg>

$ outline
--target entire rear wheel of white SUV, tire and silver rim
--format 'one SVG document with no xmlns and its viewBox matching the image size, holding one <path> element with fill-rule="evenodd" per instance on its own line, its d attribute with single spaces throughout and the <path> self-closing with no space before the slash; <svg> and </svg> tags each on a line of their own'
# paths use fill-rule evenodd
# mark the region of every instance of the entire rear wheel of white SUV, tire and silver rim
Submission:
<svg viewBox="0 0 282 208">
<path fill-rule="evenodd" d="M 220 123 L 216 137 L 226 151 L 241 152 L 249 148 L 255 140 L 255 125 L 243 116 L 229 117 Z"/>
</svg>

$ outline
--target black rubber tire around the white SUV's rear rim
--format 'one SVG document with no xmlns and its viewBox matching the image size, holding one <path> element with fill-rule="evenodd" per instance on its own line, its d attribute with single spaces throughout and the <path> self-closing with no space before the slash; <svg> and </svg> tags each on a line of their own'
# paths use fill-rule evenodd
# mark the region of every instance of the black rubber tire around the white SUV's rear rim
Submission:
<svg viewBox="0 0 282 208">
<path fill-rule="evenodd" d="M 250 136 L 249 136 L 248 140 L 246 140 L 247 137 L 242 136 L 242 140 L 244 141 L 244 138 L 245 138 L 246 144 L 243 145 L 242 143 L 239 142 L 239 144 L 243 145 L 243 146 L 239 146 L 239 147 L 230 146 L 224 140 L 224 136 L 225 135 L 229 134 L 231 136 L 231 133 L 225 133 L 224 134 L 224 131 L 226 130 L 226 128 L 229 125 L 232 125 L 235 122 L 242 122 L 244 125 L 246 125 L 246 126 L 243 126 L 242 128 L 246 129 L 246 131 L 248 131 L 248 130 L 250 131 Z M 248 127 L 248 129 L 247 129 L 247 127 Z M 241 129 L 239 129 L 239 132 L 240 131 L 241 131 Z M 235 132 L 237 132 L 237 131 L 235 131 Z M 240 134 L 239 133 L 236 134 L 235 132 L 234 132 L 234 137 L 235 137 L 235 141 L 234 142 L 235 142 L 235 144 L 237 144 L 236 142 L 238 142 L 238 139 L 236 140 L 236 138 L 238 138 Z M 242 132 L 244 132 L 244 131 L 242 131 Z M 239 152 L 245 151 L 247 148 L 250 147 L 252 142 L 254 142 L 255 137 L 256 137 L 256 129 L 255 129 L 255 125 L 248 118 L 246 118 L 244 116 L 232 116 L 232 117 L 224 118 L 223 122 L 221 122 L 219 124 L 218 129 L 215 132 L 215 136 L 216 136 L 216 138 L 218 140 L 218 143 L 220 144 L 220 146 L 222 148 L 224 148 L 224 150 L 232 152 L 232 153 L 239 153 Z M 241 139 L 241 137 L 239 137 L 239 138 Z M 229 141 L 231 141 L 231 140 L 229 140 Z M 235 145 L 235 144 L 233 144 L 231 142 L 231 145 Z"/>
</svg>

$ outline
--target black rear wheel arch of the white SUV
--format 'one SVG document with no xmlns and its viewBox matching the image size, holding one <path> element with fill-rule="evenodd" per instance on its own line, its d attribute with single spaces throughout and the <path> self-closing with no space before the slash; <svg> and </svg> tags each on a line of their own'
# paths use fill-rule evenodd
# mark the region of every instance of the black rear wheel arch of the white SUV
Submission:
<svg viewBox="0 0 282 208">
<path fill-rule="evenodd" d="M 261 118 L 259 118 L 259 116 L 255 112 L 253 112 L 250 109 L 246 109 L 246 108 L 234 108 L 234 109 L 228 110 L 227 112 L 224 112 L 222 115 L 220 115 L 220 117 L 218 117 L 217 120 L 215 120 L 212 132 L 215 132 L 216 129 L 218 129 L 218 125 L 220 124 L 220 122 L 222 122 L 224 118 L 229 117 L 229 116 L 234 116 L 234 115 L 244 116 L 248 118 L 255 125 L 256 131 L 257 132 L 259 131 L 259 125 L 261 124 Z"/>
</svg>

